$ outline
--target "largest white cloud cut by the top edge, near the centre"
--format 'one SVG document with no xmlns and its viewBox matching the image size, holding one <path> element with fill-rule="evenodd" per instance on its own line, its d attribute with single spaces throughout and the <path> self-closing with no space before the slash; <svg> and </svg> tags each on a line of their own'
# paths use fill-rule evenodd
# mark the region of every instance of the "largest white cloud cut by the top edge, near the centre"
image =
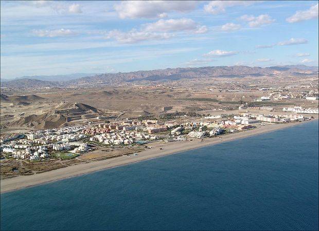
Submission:
<svg viewBox="0 0 319 231">
<path fill-rule="evenodd" d="M 171 11 L 188 12 L 196 5 L 196 1 L 121 1 L 114 9 L 120 18 L 156 18 Z"/>
</svg>

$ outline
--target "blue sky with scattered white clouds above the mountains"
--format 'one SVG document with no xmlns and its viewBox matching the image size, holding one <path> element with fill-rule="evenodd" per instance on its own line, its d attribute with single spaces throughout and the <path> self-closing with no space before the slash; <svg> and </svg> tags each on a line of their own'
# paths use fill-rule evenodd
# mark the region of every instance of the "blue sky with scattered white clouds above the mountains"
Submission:
<svg viewBox="0 0 319 231">
<path fill-rule="evenodd" d="M 318 66 L 318 1 L 1 1 L 1 78 Z"/>
</svg>

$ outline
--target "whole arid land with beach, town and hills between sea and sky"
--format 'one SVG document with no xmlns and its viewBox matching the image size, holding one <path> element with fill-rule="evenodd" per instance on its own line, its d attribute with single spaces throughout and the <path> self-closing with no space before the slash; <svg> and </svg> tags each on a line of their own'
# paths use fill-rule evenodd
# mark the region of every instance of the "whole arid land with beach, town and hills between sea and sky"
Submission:
<svg viewBox="0 0 319 231">
<path fill-rule="evenodd" d="M 204 70 L 213 76 L 183 77 Z M 180 77 L 166 82 L 119 79 L 110 84 L 96 76 L 94 80 L 82 78 L 72 86 L 14 86 L 14 81 L 2 85 L 1 191 L 318 118 L 318 71 L 313 67 L 174 71 L 174 76 Z M 216 75 L 219 71 L 232 77 Z M 166 70 L 156 73 L 168 74 Z M 123 73 L 126 75 L 135 78 L 136 73 Z"/>
</svg>

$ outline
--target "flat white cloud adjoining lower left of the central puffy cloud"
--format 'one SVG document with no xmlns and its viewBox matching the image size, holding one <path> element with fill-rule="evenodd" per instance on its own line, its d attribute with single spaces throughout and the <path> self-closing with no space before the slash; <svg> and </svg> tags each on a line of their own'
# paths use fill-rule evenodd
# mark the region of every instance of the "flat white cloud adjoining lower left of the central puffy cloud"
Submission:
<svg viewBox="0 0 319 231">
<path fill-rule="evenodd" d="M 168 33 L 153 33 L 147 31 L 137 31 L 135 29 L 129 32 L 112 30 L 108 33 L 107 38 L 114 38 L 120 43 L 139 43 L 146 40 L 165 40 L 172 35 Z"/>
</svg>

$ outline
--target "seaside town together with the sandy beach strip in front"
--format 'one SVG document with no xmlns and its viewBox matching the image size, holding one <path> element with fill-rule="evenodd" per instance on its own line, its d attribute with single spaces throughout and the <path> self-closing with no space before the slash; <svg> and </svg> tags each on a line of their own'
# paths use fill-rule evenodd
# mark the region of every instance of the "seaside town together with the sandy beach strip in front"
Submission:
<svg viewBox="0 0 319 231">
<path fill-rule="evenodd" d="M 138 155 L 144 160 L 252 136 L 317 119 L 317 114 L 313 115 L 246 112 L 205 117 L 178 115 L 163 121 L 112 120 L 30 131 L 1 140 L 1 190 L 78 175 L 73 167 L 80 167 L 82 173 L 90 172 L 92 168 L 87 168 L 88 163 L 103 169 L 110 167 L 110 163 L 117 166 L 139 161 Z M 64 174 L 57 177 L 55 174 L 60 168 Z M 52 171 L 51 176 L 48 171 Z M 44 172 L 49 174 L 47 179 Z"/>
</svg>

